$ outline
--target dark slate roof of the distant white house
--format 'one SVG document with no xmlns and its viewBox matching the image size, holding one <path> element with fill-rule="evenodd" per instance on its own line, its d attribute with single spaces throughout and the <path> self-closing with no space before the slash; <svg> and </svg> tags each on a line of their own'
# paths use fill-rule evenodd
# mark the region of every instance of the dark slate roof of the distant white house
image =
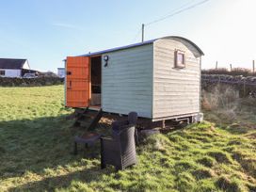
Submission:
<svg viewBox="0 0 256 192">
<path fill-rule="evenodd" d="M 0 69 L 21 70 L 24 68 L 26 59 L 0 58 Z"/>
</svg>

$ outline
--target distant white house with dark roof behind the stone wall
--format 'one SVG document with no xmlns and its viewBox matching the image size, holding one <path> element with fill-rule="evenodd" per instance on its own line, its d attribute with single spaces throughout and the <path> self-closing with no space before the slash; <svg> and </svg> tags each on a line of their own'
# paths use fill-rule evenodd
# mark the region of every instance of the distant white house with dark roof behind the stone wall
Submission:
<svg viewBox="0 0 256 192">
<path fill-rule="evenodd" d="M 30 71 L 27 59 L 0 58 L 0 76 L 22 77 Z"/>
</svg>

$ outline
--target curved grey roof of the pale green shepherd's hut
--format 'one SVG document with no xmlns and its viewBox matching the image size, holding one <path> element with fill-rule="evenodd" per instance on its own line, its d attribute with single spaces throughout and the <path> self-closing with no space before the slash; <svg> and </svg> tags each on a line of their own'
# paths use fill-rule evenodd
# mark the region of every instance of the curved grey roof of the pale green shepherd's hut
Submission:
<svg viewBox="0 0 256 192">
<path fill-rule="evenodd" d="M 128 49 L 128 48 L 132 48 L 132 47 L 137 47 L 137 46 L 142 46 L 142 45 L 146 45 L 146 44 L 151 44 L 155 40 L 164 40 L 164 39 L 184 40 L 184 41 L 188 42 L 189 44 L 191 44 L 192 46 L 194 46 L 196 48 L 196 50 L 200 53 L 200 56 L 204 55 L 203 52 L 200 50 L 200 47 L 198 45 L 196 45 L 194 42 L 192 42 L 191 40 L 187 40 L 187 39 L 185 39 L 183 37 L 179 37 L 179 36 L 167 36 L 167 37 L 158 38 L 158 39 L 154 39 L 154 40 L 146 40 L 146 41 L 143 41 L 143 42 L 138 42 L 138 43 L 129 44 L 129 45 L 125 45 L 125 46 L 115 47 L 115 48 L 112 48 L 112 49 L 106 49 L 106 50 L 99 51 L 99 52 L 88 53 L 88 54 L 81 55 L 81 56 L 103 55 L 103 54 L 109 53 L 109 52 L 115 52 L 115 51 L 119 51 L 119 50 L 123 50 L 123 49 Z"/>
</svg>

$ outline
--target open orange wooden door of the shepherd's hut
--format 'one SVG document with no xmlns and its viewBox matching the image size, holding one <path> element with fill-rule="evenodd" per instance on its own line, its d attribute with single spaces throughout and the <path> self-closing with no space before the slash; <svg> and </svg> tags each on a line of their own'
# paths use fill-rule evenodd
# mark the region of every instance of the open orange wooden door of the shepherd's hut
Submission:
<svg viewBox="0 0 256 192">
<path fill-rule="evenodd" d="M 66 61 L 66 106 L 89 104 L 89 57 L 68 56 Z"/>
</svg>

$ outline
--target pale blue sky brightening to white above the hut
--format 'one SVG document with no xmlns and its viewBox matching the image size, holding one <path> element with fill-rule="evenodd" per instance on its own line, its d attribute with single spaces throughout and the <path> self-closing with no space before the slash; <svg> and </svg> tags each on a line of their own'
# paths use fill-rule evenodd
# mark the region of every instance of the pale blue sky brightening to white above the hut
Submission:
<svg viewBox="0 0 256 192">
<path fill-rule="evenodd" d="M 251 69 L 256 59 L 256 0 L 0 0 L 0 57 L 27 58 L 56 72 L 66 56 L 164 36 L 182 36 L 204 52 L 202 68 Z M 147 25 L 148 24 L 148 25 Z"/>
</svg>

